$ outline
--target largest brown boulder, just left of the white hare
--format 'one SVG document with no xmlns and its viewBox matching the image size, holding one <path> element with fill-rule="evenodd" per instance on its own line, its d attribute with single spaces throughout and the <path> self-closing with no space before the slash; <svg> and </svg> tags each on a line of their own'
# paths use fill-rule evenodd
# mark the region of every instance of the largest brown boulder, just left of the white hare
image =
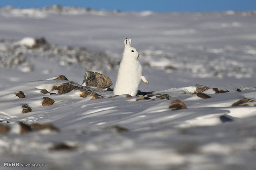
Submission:
<svg viewBox="0 0 256 170">
<path fill-rule="evenodd" d="M 102 89 L 108 88 L 113 84 L 108 76 L 93 71 L 87 71 L 85 80 L 83 80 L 83 84 L 84 83 L 86 86 L 99 87 Z"/>
</svg>

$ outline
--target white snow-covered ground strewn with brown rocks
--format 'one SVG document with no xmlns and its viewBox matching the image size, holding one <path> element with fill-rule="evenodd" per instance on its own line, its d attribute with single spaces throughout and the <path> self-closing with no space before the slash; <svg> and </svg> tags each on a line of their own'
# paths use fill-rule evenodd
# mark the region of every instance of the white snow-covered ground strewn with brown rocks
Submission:
<svg viewBox="0 0 256 170">
<path fill-rule="evenodd" d="M 95 71 L 109 76 L 114 88 L 123 39 L 129 37 L 149 81 L 139 90 L 149 94 L 114 96 L 81 86 L 85 72 Z M 255 12 L 5 7 L 0 66 L 0 127 L 9 128 L 0 133 L 1 169 L 15 169 L 4 162 L 47 163 L 38 169 L 256 167 Z M 68 80 L 51 78 L 59 75 Z M 52 89 L 63 83 L 103 98 Z M 202 87 L 197 84 L 211 87 L 203 92 L 210 98 L 195 94 Z M 216 93 L 213 87 L 230 92 Z M 25 98 L 16 96 L 20 91 Z M 54 103 L 43 106 L 45 97 Z M 169 108 L 175 100 L 186 109 Z M 22 113 L 26 107 L 32 111 Z M 20 122 L 33 131 L 20 134 Z M 59 131 L 37 131 L 34 123 L 50 123 Z"/>
</svg>

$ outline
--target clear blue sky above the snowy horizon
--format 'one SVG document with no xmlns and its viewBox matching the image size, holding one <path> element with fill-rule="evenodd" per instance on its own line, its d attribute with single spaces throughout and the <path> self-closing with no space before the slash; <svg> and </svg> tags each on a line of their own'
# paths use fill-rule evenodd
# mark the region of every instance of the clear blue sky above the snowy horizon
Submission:
<svg viewBox="0 0 256 170">
<path fill-rule="evenodd" d="M 256 10 L 256 0 L 0 0 L 0 7 L 31 8 L 56 4 L 121 11 Z"/>
</svg>

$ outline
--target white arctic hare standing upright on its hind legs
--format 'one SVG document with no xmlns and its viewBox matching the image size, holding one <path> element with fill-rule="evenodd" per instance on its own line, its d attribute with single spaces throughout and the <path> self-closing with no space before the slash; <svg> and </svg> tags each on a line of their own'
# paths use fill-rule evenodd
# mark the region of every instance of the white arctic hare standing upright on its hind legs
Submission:
<svg viewBox="0 0 256 170">
<path fill-rule="evenodd" d="M 147 79 L 142 76 L 142 67 L 137 60 L 140 54 L 130 44 L 131 39 L 126 38 L 124 40 L 123 59 L 120 63 L 114 87 L 114 94 L 116 95 L 130 94 L 135 96 L 141 80 L 149 84 Z"/>
</svg>

